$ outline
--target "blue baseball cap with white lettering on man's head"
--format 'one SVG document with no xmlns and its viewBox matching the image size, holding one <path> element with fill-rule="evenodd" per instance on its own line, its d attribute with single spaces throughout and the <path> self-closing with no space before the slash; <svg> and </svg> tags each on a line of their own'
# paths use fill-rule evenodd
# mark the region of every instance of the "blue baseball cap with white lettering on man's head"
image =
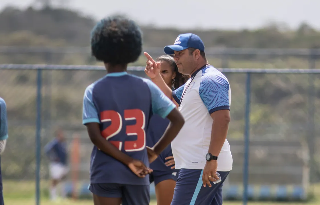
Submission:
<svg viewBox="0 0 320 205">
<path fill-rule="evenodd" d="M 174 51 L 182 51 L 187 48 L 195 48 L 204 51 L 204 44 L 201 38 L 196 34 L 180 34 L 173 45 L 164 47 L 164 52 L 171 55 Z"/>
</svg>

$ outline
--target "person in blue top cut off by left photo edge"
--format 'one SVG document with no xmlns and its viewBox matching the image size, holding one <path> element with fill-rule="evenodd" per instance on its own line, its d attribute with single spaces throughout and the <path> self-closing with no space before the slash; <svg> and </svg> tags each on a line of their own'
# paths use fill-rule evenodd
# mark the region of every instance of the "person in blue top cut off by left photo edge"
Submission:
<svg viewBox="0 0 320 205">
<path fill-rule="evenodd" d="M 7 121 L 7 107 L 4 99 L 0 98 L 0 155 L 4 152 L 5 145 L 8 139 L 8 121 Z M 4 204 L 3 187 L 1 176 L 1 156 L 0 156 L 0 205 Z"/>
</svg>

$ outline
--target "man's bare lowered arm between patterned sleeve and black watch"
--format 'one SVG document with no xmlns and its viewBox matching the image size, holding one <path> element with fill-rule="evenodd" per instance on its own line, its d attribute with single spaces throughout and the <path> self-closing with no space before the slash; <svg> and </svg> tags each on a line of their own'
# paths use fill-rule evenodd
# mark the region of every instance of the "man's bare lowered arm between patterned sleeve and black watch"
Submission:
<svg viewBox="0 0 320 205">
<path fill-rule="evenodd" d="M 226 141 L 229 128 L 228 120 L 214 120 L 212 123 L 211 141 L 208 152 L 219 156 L 224 142 Z"/>
</svg>

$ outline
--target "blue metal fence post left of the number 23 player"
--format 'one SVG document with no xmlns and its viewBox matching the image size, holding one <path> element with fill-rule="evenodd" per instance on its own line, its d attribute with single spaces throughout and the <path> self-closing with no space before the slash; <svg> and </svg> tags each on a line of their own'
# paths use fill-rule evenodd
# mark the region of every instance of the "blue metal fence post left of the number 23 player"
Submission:
<svg viewBox="0 0 320 205">
<path fill-rule="evenodd" d="M 36 205 L 40 204 L 40 155 L 41 155 L 41 99 L 42 69 L 37 69 L 36 99 Z"/>
</svg>

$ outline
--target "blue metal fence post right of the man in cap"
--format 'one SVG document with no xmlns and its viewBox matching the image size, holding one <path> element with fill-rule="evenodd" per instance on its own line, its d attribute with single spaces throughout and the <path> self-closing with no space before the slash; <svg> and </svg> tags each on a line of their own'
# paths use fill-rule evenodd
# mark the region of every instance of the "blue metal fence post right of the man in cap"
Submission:
<svg viewBox="0 0 320 205">
<path fill-rule="evenodd" d="M 247 73 L 246 100 L 245 100 L 245 126 L 244 126 L 244 165 L 243 165 L 243 204 L 248 202 L 248 175 L 249 175 L 249 136 L 250 136 L 250 99 L 251 99 L 251 73 Z"/>
</svg>

